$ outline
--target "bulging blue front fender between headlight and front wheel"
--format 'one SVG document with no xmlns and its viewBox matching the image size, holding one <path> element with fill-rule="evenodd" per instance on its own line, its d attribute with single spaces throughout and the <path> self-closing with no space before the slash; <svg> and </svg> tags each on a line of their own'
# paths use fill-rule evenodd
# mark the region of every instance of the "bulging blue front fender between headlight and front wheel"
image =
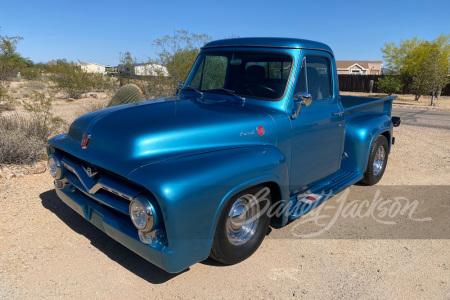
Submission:
<svg viewBox="0 0 450 300">
<path fill-rule="evenodd" d="M 270 145 L 167 160 L 127 177 L 152 192 L 161 207 L 168 247 L 180 253 L 165 262 L 172 270 L 208 257 L 222 208 L 236 193 L 275 182 L 282 199 L 289 199 L 286 159 Z"/>
</svg>

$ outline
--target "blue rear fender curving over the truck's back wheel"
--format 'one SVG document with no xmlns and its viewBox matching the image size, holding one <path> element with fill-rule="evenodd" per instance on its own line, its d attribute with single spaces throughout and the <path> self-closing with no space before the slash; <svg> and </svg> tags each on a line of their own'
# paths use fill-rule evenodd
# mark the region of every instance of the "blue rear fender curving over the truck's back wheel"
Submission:
<svg viewBox="0 0 450 300">
<path fill-rule="evenodd" d="M 370 146 L 374 139 L 385 132 L 392 137 L 392 121 L 387 115 L 361 116 L 345 124 L 344 151 L 348 158 L 342 161 L 341 169 L 364 173 L 369 159 Z M 391 139 L 388 139 L 389 148 Z"/>
</svg>

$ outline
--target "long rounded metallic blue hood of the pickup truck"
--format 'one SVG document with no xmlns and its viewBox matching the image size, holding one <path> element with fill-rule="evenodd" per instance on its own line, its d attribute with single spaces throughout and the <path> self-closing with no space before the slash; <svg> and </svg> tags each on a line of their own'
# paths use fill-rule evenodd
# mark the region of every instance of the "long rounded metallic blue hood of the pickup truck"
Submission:
<svg viewBox="0 0 450 300">
<path fill-rule="evenodd" d="M 206 97 L 174 99 L 143 101 L 86 114 L 73 122 L 67 134 L 49 143 L 127 176 L 141 166 L 167 159 L 277 142 L 273 119 L 257 106 Z M 90 136 L 86 149 L 81 147 L 83 134 Z"/>
</svg>

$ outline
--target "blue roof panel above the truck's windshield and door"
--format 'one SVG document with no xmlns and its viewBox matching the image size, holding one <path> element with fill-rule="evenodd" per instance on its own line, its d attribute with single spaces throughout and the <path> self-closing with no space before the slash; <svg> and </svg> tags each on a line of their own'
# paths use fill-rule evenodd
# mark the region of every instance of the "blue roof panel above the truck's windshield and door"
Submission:
<svg viewBox="0 0 450 300">
<path fill-rule="evenodd" d="M 320 42 L 293 39 L 293 38 L 235 38 L 217 40 L 207 43 L 202 49 L 220 48 L 220 47 L 263 47 L 263 48 L 289 48 L 289 49 L 315 49 L 323 50 L 333 54 L 331 48 Z"/>
</svg>

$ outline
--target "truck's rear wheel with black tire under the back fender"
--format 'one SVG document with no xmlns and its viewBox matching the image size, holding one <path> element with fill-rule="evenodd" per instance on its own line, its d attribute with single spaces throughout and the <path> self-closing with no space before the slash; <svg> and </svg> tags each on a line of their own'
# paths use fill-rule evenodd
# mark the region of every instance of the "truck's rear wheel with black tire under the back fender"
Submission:
<svg viewBox="0 0 450 300">
<path fill-rule="evenodd" d="M 386 137 L 383 135 L 378 136 L 370 147 L 369 161 L 364 177 L 361 179 L 362 183 L 374 185 L 381 180 L 386 170 L 388 151 L 389 143 Z"/>
</svg>

